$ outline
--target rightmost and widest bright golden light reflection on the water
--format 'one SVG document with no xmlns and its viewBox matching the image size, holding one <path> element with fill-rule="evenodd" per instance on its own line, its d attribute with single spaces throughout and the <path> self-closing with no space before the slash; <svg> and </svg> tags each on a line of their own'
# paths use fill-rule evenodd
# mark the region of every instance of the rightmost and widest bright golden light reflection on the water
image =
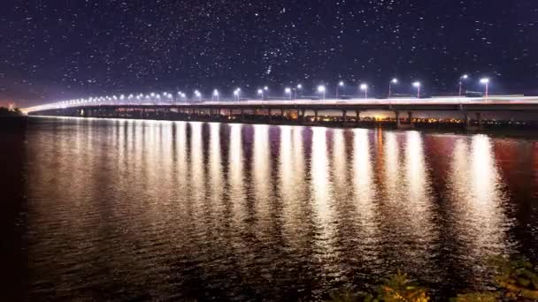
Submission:
<svg viewBox="0 0 538 302">
<path fill-rule="evenodd" d="M 465 265 L 474 266 L 477 277 L 489 255 L 506 253 L 510 245 L 501 187 L 490 139 L 457 140 L 449 173 L 452 228 Z"/>
</svg>

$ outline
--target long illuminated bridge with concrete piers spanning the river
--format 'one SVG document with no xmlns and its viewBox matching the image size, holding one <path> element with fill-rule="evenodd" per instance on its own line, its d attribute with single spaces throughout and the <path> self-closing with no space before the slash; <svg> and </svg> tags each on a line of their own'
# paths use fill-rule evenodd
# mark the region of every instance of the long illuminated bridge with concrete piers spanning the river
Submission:
<svg viewBox="0 0 538 302">
<path fill-rule="evenodd" d="M 74 100 L 23 109 L 29 115 L 60 117 L 116 117 L 167 120 L 209 120 L 265 123 L 319 124 L 319 112 L 339 111 L 343 125 L 360 123 L 361 112 L 390 111 L 397 128 L 413 127 L 414 111 L 449 111 L 463 116 L 465 128 L 480 128 L 484 112 L 537 112 L 538 97 L 434 97 L 427 99 L 240 100 L 200 102 L 126 102 Z M 306 118 L 306 112 L 311 116 Z M 406 115 L 406 116 L 404 116 Z M 473 123 L 472 123 L 473 121 Z"/>
</svg>

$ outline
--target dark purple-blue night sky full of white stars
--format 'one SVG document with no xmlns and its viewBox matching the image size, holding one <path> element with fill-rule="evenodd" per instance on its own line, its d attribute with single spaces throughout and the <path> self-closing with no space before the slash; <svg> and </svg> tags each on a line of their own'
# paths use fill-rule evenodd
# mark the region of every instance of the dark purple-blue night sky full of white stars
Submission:
<svg viewBox="0 0 538 302">
<path fill-rule="evenodd" d="M 538 91 L 537 0 L 7 0 L 0 105 L 150 91 Z M 305 91 L 305 93 L 307 93 Z M 342 93 L 341 93 L 342 94 Z"/>
</svg>

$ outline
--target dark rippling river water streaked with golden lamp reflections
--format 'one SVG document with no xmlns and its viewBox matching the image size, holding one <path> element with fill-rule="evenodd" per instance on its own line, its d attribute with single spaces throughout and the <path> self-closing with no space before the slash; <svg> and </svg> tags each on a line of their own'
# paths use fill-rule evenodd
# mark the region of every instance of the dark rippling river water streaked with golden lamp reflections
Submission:
<svg viewBox="0 0 538 302">
<path fill-rule="evenodd" d="M 535 140 L 69 118 L 0 137 L 28 300 L 317 300 L 398 268 L 446 298 L 487 285 L 490 255 L 538 259 Z"/>
</svg>

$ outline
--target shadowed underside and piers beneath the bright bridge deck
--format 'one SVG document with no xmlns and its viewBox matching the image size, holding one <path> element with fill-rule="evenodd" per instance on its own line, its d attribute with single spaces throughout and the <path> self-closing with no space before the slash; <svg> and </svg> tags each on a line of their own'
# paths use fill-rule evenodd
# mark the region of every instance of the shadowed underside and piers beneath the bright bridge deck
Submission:
<svg viewBox="0 0 538 302">
<path fill-rule="evenodd" d="M 320 112 L 338 111 L 336 117 L 321 117 Z M 389 111 L 391 118 L 365 117 L 365 111 Z M 454 123 L 465 129 L 480 129 L 482 113 L 536 112 L 538 104 L 184 104 L 184 105 L 100 105 L 48 109 L 30 112 L 30 115 L 58 117 L 107 117 L 158 120 L 198 120 L 213 122 L 241 122 L 293 125 L 390 125 L 410 128 L 423 123 L 413 112 L 449 112 Z M 361 112 L 363 116 L 361 116 Z M 307 115 L 308 113 L 308 115 Z"/>
</svg>

